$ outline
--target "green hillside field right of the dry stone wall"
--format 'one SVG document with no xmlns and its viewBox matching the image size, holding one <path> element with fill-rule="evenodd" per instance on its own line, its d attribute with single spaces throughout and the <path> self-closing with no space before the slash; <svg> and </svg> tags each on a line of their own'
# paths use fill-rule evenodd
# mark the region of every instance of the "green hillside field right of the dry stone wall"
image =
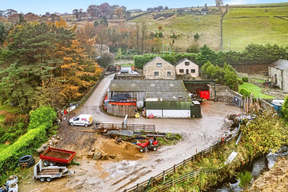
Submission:
<svg viewBox="0 0 288 192">
<path fill-rule="evenodd" d="M 288 6 L 229 7 L 223 20 L 223 48 L 243 50 L 249 43 L 287 45 Z M 240 18 L 249 17 L 249 18 Z"/>
</svg>

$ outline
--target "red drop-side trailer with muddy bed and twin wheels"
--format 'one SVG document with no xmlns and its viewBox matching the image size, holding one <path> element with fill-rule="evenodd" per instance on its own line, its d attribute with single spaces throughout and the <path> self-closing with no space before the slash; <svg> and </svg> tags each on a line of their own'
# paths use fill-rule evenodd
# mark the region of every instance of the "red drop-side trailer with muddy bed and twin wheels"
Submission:
<svg viewBox="0 0 288 192">
<path fill-rule="evenodd" d="M 46 151 L 40 154 L 44 166 L 55 166 L 56 162 L 70 164 L 75 157 L 75 151 L 55 149 L 48 147 Z"/>
</svg>

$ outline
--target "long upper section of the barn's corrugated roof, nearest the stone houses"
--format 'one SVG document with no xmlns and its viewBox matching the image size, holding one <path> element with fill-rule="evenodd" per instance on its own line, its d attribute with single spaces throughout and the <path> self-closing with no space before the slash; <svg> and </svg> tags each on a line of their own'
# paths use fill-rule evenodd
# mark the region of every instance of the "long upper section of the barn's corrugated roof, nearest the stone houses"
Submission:
<svg viewBox="0 0 288 192">
<path fill-rule="evenodd" d="M 182 80 L 113 79 L 109 85 L 109 91 L 186 92 L 186 88 Z"/>
</svg>

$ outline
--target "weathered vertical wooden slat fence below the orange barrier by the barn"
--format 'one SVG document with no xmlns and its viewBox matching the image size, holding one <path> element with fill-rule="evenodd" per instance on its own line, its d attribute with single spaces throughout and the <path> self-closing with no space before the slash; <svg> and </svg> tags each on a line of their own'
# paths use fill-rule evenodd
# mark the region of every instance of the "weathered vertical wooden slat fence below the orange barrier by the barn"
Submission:
<svg viewBox="0 0 288 192">
<path fill-rule="evenodd" d="M 134 105 L 113 105 L 107 104 L 107 113 L 118 117 L 135 117 L 135 107 Z"/>
</svg>

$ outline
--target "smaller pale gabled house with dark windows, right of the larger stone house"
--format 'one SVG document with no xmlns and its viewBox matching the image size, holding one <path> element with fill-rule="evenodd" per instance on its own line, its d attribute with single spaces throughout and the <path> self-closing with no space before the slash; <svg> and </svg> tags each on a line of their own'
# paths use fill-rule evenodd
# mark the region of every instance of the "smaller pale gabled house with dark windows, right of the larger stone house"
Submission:
<svg viewBox="0 0 288 192">
<path fill-rule="evenodd" d="M 182 59 L 175 64 L 176 75 L 189 75 L 192 77 L 199 76 L 199 66 L 189 59 Z"/>
</svg>

